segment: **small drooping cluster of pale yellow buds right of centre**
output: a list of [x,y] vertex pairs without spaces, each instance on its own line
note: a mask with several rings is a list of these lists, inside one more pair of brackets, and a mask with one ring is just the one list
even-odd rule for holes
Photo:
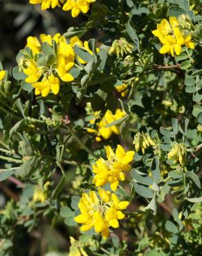
[[150,146],[155,146],[154,140],[151,138],[151,136],[147,133],[142,133],[138,132],[134,136],[134,142],[133,144],[135,145],[136,152],[138,152],[140,149],[145,154],[145,149],[147,149]]

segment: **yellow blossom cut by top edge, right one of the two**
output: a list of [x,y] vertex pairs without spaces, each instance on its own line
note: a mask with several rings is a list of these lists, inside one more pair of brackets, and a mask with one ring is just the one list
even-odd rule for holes
[[95,1],[96,0],[67,0],[63,6],[63,10],[71,10],[71,15],[75,18],[80,12],[88,12],[90,3]]

